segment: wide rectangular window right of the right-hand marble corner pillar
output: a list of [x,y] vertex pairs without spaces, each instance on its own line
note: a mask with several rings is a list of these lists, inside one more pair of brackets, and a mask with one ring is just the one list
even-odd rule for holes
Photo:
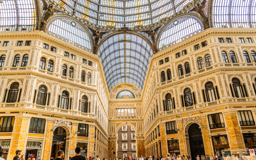
[[237,111],[240,126],[255,125],[251,111]]

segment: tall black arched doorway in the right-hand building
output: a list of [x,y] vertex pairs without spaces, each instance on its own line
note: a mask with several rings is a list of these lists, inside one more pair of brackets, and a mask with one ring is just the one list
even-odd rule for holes
[[191,153],[190,159],[195,160],[197,155],[199,155],[201,159],[201,155],[205,155],[205,152],[202,132],[198,124],[192,124],[189,126],[188,137]]

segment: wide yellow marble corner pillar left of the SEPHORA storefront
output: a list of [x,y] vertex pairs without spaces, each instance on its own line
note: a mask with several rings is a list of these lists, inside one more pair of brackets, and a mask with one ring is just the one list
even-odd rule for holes
[[13,130],[13,137],[12,137],[12,144],[11,144],[11,150],[10,150],[10,157],[15,156],[16,150],[22,150],[22,153],[24,153],[24,147],[25,147],[25,139],[26,134],[28,130],[28,121],[30,117],[26,116],[15,116],[15,125]]

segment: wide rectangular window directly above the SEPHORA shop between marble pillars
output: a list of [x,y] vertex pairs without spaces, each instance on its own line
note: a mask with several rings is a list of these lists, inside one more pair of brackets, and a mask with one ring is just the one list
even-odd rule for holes
[[45,119],[31,118],[29,131],[30,133],[44,133]]

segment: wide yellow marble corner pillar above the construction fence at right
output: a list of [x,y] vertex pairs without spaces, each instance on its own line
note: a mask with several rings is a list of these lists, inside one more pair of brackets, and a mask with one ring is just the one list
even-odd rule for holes
[[229,136],[229,147],[230,150],[235,149],[245,149],[244,143],[243,143],[243,137],[240,132],[238,119],[236,117],[237,111],[227,111],[223,112],[222,114],[225,116],[226,120],[226,128],[228,131]]

